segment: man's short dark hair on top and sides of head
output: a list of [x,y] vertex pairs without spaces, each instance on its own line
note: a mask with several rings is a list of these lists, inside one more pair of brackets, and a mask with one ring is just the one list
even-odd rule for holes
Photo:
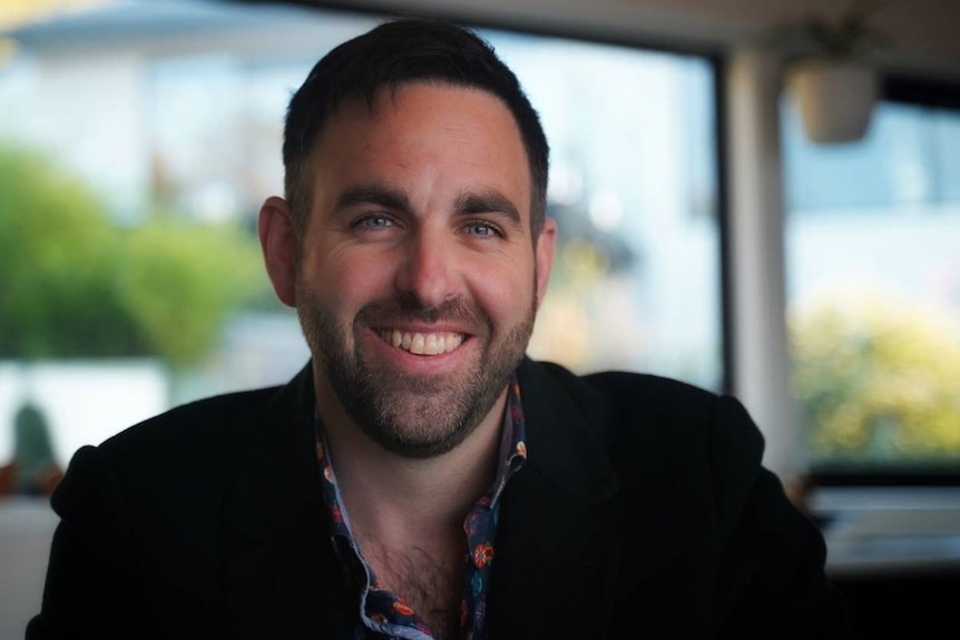
[[369,108],[382,89],[434,81],[499,97],[510,109],[527,150],[532,179],[531,233],[536,239],[547,206],[549,147],[540,118],[513,72],[472,31],[440,20],[400,18],[332,49],[293,95],[283,141],[284,188],[296,233],[306,230],[311,185],[307,165],[317,135],[341,100],[362,98]]

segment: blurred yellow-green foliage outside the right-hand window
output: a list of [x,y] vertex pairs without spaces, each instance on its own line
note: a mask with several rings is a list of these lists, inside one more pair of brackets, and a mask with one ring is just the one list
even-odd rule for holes
[[861,291],[791,319],[811,462],[960,460],[960,318]]

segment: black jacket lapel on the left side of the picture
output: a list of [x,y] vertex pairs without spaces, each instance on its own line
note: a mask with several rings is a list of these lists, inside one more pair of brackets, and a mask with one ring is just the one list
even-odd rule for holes
[[224,515],[232,638],[312,638],[341,628],[339,575],[313,439],[310,365],[252,420]]

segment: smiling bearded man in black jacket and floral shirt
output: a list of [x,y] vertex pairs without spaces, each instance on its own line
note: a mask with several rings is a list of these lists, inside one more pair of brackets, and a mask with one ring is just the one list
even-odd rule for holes
[[733,398],[525,357],[548,146],[469,31],[384,23],[291,100],[259,238],[308,366],[80,450],[28,638],[842,638]]

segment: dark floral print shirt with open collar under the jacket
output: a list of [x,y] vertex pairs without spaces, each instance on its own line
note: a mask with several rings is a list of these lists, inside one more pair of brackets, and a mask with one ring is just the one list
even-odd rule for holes
[[[403,598],[379,585],[373,568],[364,560],[350,529],[350,518],[343,504],[333,463],[327,455],[326,432],[317,414],[316,456],[323,483],[323,496],[333,524],[332,542],[336,555],[343,563],[347,589],[359,594],[360,622],[355,629],[357,640],[404,639],[431,640],[430,628]],[[463,591],[460,603],[461,640],[484,640],[487,582],[494,560],[499,498],[510,477],[520,470],[527,459],[523,412],[520,405],[520,386],[511,376],[503,414],[500,440],[500,459],[497,477],[487,493],[477,501],[463,531],[467,549],[463,571]]]

